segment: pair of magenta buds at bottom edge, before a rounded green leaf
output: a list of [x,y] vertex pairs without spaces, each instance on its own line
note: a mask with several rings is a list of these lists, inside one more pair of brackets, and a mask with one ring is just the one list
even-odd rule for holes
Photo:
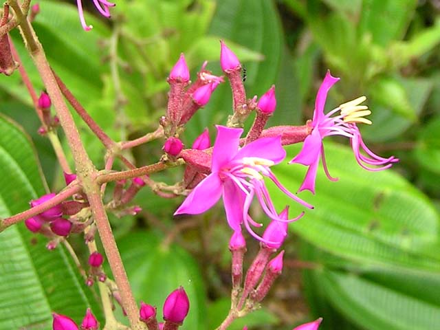
[[140,305],[140,320],[146,324],[148,330],[176,330],[184,322],[190,309],[190,301],[183,287],[179,287],[166,297],[163,314],[164,322],[157,322],[156,307],[144,302]]

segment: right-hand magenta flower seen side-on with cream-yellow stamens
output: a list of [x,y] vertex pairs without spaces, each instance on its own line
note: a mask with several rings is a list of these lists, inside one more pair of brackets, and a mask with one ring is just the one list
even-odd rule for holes
[[[326,115],[324,114],[327,93],[338,80],[339,78],[331,76],[330,72],[327,71],[316,96],[314,118],[311,122],[311,126],[313,127],[311,134],[305,138],[303,149],[301,149],[300,153],[289,163],[309,166],[303,184],[298,191],[307,189],[315,193],[316,170],[318,170],[320,159],[322,159],[322,166],[324,167],[327,177],[331,179],[331,181],[337,180],[337,178],[331,177],[325,162],[322,139],[329,135],[349,137],[356,161],[366,170],[384,170],[399,161],[399,159],[394,156],[384,158],[375,155],[375,153],[364,144],[356,123],[362,122],[364,124],[371,124],[370,120],[364,118],[365,115],[371,114],[371,111],[365,105],[360,105],[366,100],[365,96],[341,104]],[[339,114],[335,115],[336,113]],[[332,115],[335,116],[332,117]],[[361,149],[366,155],[361,153]]]

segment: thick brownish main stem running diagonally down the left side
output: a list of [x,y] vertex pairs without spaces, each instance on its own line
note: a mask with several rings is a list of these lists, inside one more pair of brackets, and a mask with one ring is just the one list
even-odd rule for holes
[[25,41],[30,56],[32,57],[36,68],[39,71],[39,74],[47,89],[47,93],[54,104],[61,126],[63,126],[65,131],[67,142],[69,143],[69,147],[74,157],[78,179],[83,186],[87,199],[89,200],[91,212],[96,221],[96,226],[98,228],[107,259],[109,260],[109,265],[115,278],[115,282],[120,290],[122,303],[124,305],[124,309],[126,310],[127,316],[129,317],[131,328],[133,330],[146,329],[139,320],[137,305],[135,303],[133,292],[131,291],[130,283],[126,276],[118,247],[111,232],[109,219],[107,218],[107,213],[105,212],[104,205],[102,203],[100,186],[96,183],[98,171],[85,151],[85,147],[80,139],[80,135],[74,123],[72,114],[69,112],[67,104],[64,102],[63,94],[61,94],[54,74],[50,69],[50,65],[47,63],[43,47],[41,47],[41,44],[39,43],[32,26],[21,11],[17,0],[9,0],[8,3],[14,10],[15,15],[20,22],[19,29],[21,35],[23,36],[23,40]]

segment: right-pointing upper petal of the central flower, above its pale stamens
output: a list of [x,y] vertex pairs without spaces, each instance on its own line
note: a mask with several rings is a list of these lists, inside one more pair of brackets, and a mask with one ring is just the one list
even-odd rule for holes
[[260,157],[270,159],[275,164],[282,162],[286,151],[281,146],[281,135],[276,137],[261,137],[250,144],[246,144],[236,153],[234,159],[243,157]]

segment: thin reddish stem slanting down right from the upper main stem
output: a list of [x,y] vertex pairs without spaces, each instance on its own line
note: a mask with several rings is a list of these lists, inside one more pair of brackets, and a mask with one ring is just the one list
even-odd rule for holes
[[76,100],[74,94],[67,88],[67,86],[63,83],[63,80],[52,70],[54,77],[56,79],[56,83],[58,87],[61,89],[61,93],[63,93],[64,97],[67,101],[69,101],[70,105],[75,109],[76,113],[80,115],[80,117],[84,120],[84,122],[89,126],[92,132],[98,137],[98,139],[104,144],[107,149],[111,149],[115,147],[115,142],[111,140],[109,135],[107,135],[98,124],[96,124],[95,120],[91,118],[89,113],[84,109],[84,107],[80,104],[78,100]]

